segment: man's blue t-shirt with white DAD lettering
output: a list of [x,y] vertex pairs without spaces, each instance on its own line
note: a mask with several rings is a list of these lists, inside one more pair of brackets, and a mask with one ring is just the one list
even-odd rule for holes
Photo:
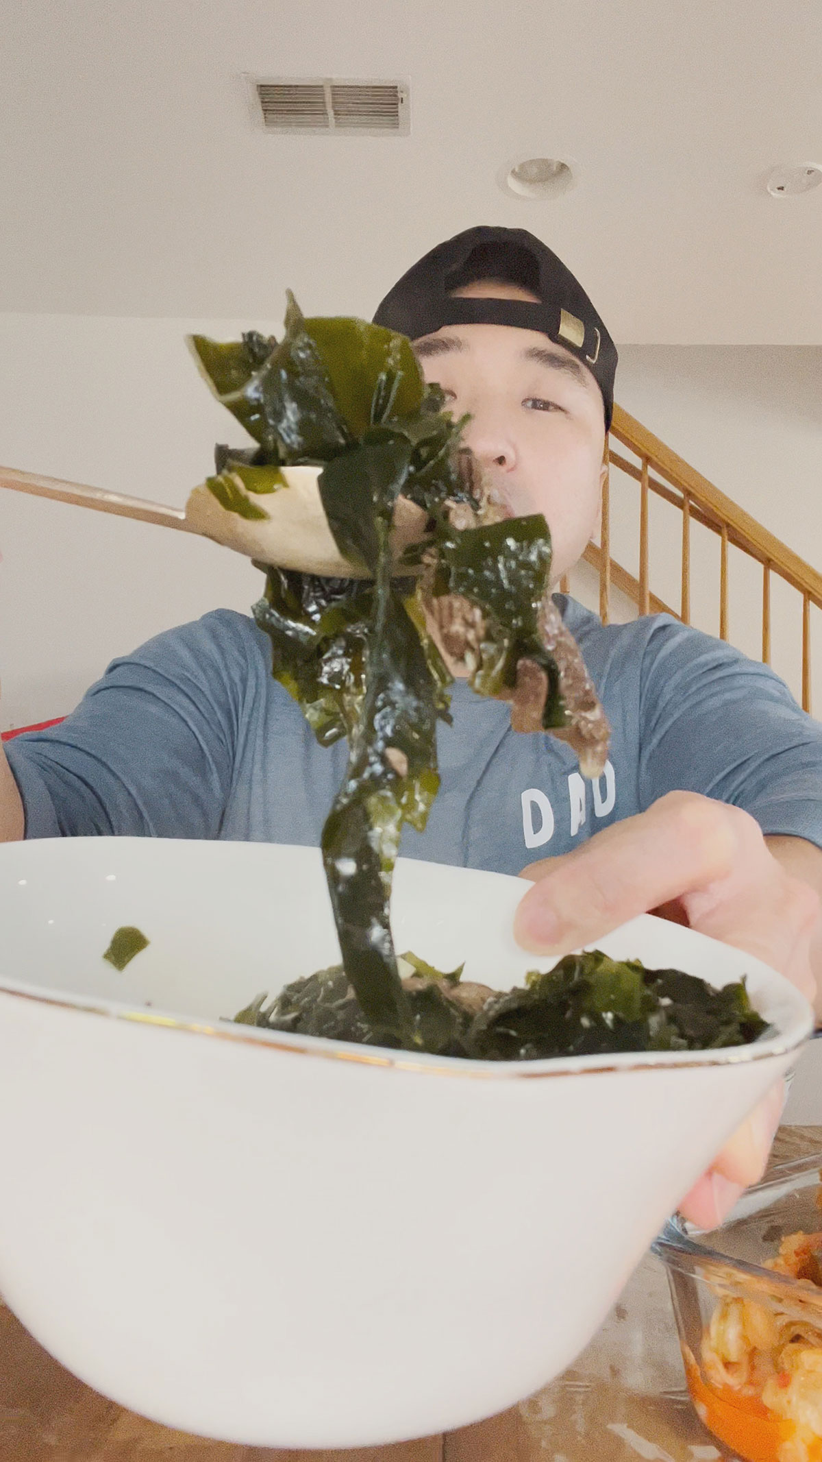
[[[767,667],[669,616],[603,627],[558,595],[613,728],[599,782],[555,737],[454,686],[442,785],[406,857],[518,873],[675,788],[746,808],[765,833],[822,846],[822,725]],[[58,727],[9,762],[26,836],[93,833],[317,845],[347,747],[317,744],[270,674],[270,646],[229,610],[117,659]]]

